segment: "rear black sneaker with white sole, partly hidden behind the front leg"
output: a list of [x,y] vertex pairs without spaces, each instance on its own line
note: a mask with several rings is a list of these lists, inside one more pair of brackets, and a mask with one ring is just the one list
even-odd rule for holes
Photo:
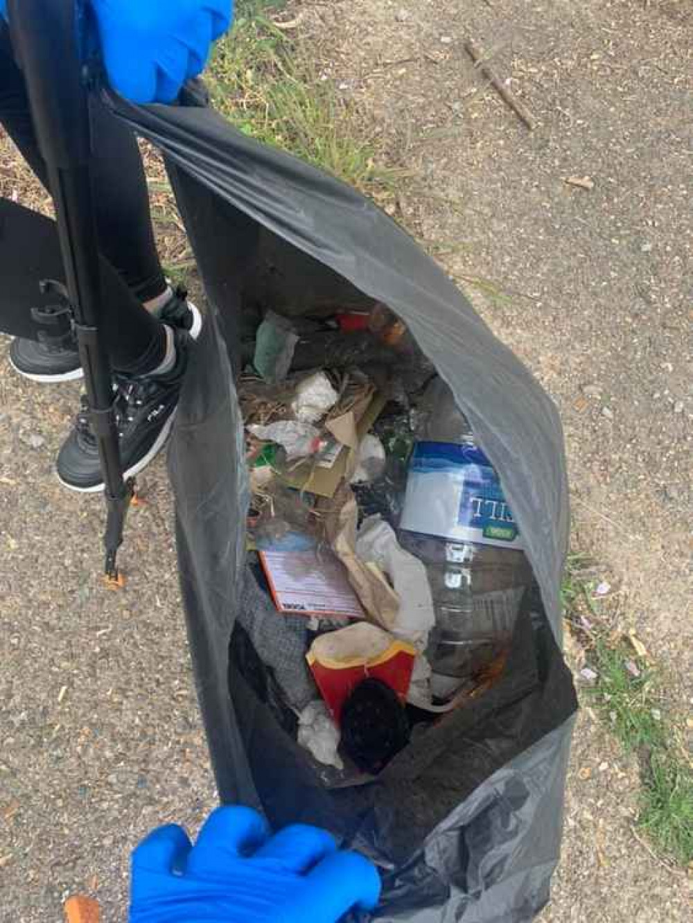
[[[175,289],[157,317],[169,327],[186,330],[193,340],[197,340],[202,330],[202,315],[197,307],[187,300],[187,293],[183,288]],[[83,375],[77,343],[48,346],[17,337],[10,344],[9,361],[19,375],[30,378],[31,381],[74,381]]]

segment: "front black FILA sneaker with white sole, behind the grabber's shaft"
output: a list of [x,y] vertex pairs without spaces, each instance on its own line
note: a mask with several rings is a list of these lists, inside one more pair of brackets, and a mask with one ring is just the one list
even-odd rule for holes
[[[125,477],[142,471],[163,449],[171,433],[191,342],[184,330],[174,330],[174,336],[176,358],[170,372],[142,378],[116,377],[115,414]],[[71,490],[103,490],[99,451],[85,398],[75,428],[58,453],[56,467],[60,481]]]

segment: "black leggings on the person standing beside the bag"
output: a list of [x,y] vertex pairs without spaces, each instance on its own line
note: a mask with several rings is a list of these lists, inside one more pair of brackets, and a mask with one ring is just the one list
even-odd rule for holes
[[[161,362],[165,350],[160,322],[141,305],[166,286],[151,229],[147,182],[132,132],[95,99],[90,113],[104,341],[114,368],[141,375]],[[0,123],[47,188],[24,78],[5,24],[0,27]],[[49,278],[64,278],[54,222],[0,199],[0,330],[38,338],[40,328],[30,309],[45,302],[38,282]]]

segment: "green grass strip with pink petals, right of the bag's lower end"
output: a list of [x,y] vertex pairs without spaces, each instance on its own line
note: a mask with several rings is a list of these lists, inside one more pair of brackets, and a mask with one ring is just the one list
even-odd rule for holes
[[639,760],[638,827],[664,857],[689,867],[693,863],[693,765],[664,713],[656,667],[639,656],[629,641],[598,621],[595,624],[599,612],[591,590],[580,579],[575,561],[569,561],[564,611],[579,622],[580,609],[587,609],[591,631],[581,640],[597,674],[591,694],[615,737]]

